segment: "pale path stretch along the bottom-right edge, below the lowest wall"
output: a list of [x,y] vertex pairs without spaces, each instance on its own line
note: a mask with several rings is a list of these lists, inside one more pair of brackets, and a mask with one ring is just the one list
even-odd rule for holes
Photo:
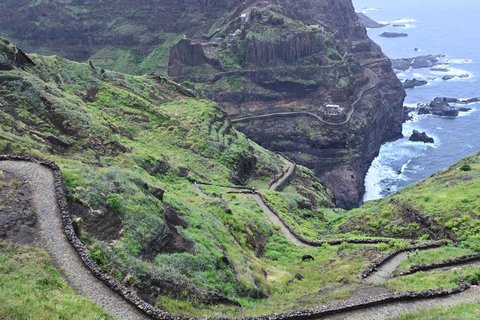
[[366,309],[343,312],[341,314],[316,319],[329,320],[380,320],[392,319],[405,313],[428,310],[437,307],[454,307],[460,303],[480,303],[480,288],[474,286],[467,291],[447,297],[395,302]]

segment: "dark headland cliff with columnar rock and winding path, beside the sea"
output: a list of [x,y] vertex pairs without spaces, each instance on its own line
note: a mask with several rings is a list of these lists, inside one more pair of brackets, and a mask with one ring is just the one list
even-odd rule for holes
[[255,141],[314,169],[339,206],[358,205],[381,144],[401,136],[404,91],[351,2],[246,3],[216,26],[172,49],[169,75],[219,102]]

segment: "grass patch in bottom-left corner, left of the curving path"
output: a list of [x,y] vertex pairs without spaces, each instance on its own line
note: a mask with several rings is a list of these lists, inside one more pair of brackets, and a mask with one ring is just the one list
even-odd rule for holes
[[111,319],[76,294],[38,248],[0,242],[0,318]]

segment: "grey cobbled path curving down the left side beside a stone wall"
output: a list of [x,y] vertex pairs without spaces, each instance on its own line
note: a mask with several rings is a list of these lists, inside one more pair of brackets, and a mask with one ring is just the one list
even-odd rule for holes
[[50,253],[67,282],[78,293],[101,305],[117,319],[151,319],[93,276],[83,264],[63,233],[63,222],[54,192],[53,174],[49,169],[31,162],[0,161],[0,170],[30,182],[43,247]]

